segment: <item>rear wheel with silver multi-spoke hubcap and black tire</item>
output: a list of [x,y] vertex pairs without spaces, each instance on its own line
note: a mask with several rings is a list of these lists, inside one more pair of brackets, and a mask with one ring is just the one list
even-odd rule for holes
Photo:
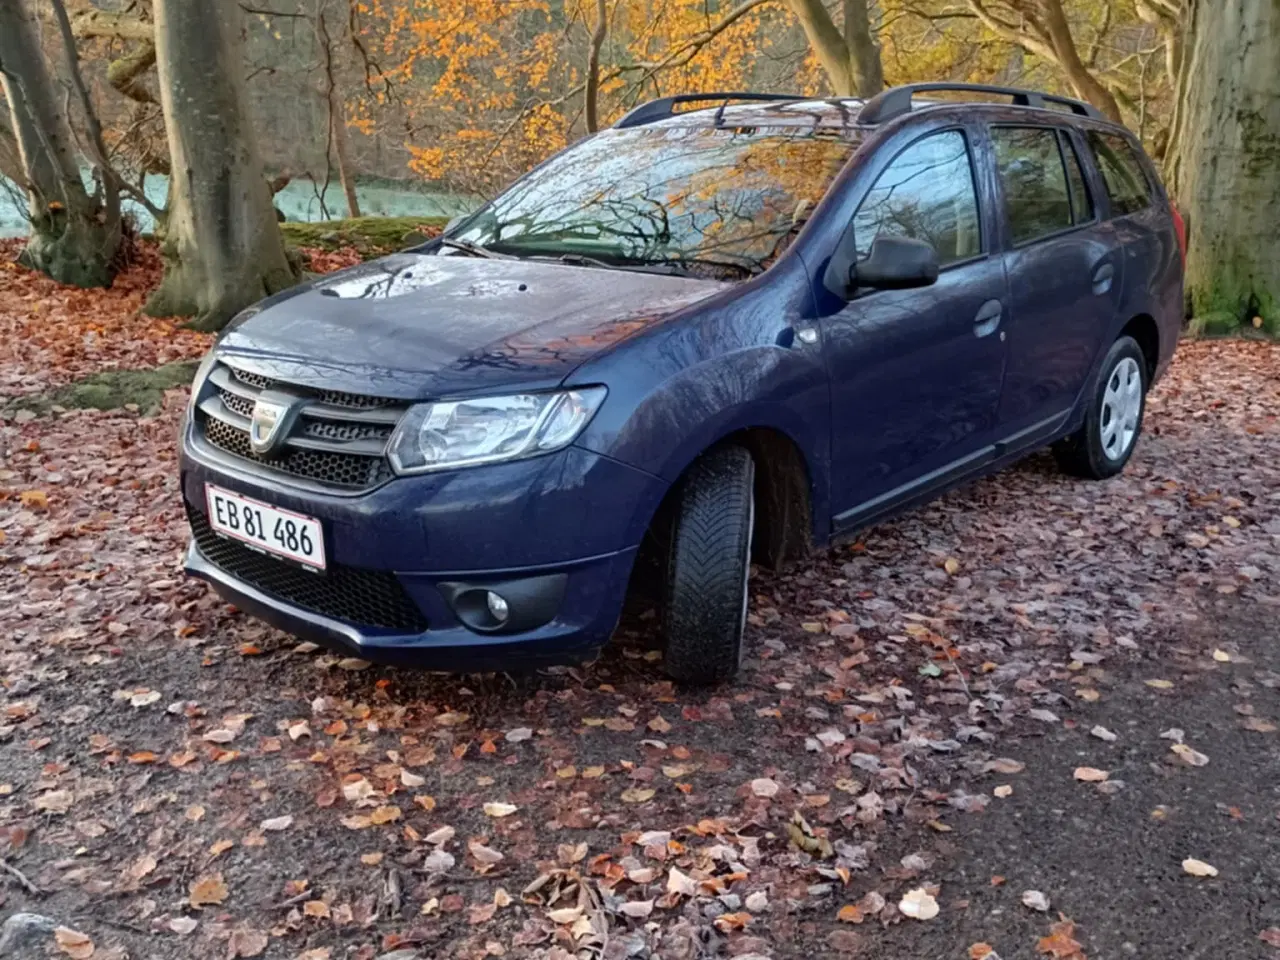
[[1147,357],[1121,337],[1102,360],[1084,425],[1053,445],[1059,466],[1073,476],[1106,480],[1124,470],[1147,412]]

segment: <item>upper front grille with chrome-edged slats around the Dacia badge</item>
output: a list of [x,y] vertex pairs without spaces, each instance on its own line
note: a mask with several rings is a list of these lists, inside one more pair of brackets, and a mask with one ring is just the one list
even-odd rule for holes
[[[366,490],[393,475],[385,448],[404,412],[394,401],[284,384],[229,364],[216,365],[206,384],[197,428],[233,457],[344,490]],[[259,394],[270,388],[302,396],[305,406],[284,449],[264,457],[252,451],[248,426]]]

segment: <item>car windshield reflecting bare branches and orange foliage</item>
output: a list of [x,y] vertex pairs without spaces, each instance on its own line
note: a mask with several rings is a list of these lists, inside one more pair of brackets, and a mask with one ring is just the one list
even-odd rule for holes
[[855,146],[808,127],[607,131],[534,170],[453,238],[517,256],[754,274],[790,243]]

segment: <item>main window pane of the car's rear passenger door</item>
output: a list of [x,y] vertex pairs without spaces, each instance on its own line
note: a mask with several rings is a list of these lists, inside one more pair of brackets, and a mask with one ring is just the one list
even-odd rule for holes
[[991,140],[1012,242],[1028,243],[1070,227],[1071,195],[1057,132],[1048,127],[996,127]]

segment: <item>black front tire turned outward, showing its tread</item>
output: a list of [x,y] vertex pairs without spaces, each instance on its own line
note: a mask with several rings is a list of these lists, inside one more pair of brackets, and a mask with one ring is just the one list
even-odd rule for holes
[[704,454],[676,504],[663,603],[667,676],[718,684],[742,663],[755,463],[741,447]]

